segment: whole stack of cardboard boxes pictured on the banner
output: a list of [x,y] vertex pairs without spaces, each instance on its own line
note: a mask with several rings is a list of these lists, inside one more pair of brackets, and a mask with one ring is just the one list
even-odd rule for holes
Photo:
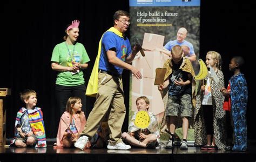
[[156,78],[156,69],[163,68],[169,56],[153,50],[155,47],[163,48],[163,44],[164,36],[144,33],[142,48],[144,49],[145,57],[138,52],[132,62],[132,65],[142,73],[143,78],[137,79],[132,76],[131,109],[137,112],[136,99],[140,96],[146,96],[150,100],[149,112],[156,115],[158,123],[161,123],[165,109],[158,87],[154,85],[154,79]]

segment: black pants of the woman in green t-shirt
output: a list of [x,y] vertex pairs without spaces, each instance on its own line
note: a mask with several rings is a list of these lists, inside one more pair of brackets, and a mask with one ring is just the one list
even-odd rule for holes
[[84,84],[77,86],[63,86],[56,85],[56,105],[57,105],[57,119],[60,119],[63,112],[66,111],[66,102],[70,97],[79,97],[83,104],[82,111],[85,112],[86,96],[85,96],[86,87]]

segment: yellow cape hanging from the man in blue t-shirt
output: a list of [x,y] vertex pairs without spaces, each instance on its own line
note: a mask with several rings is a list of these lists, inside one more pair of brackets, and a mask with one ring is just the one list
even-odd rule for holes
[[[123,33],[118,31],[114,27],[111,27],[107,31],[111,31],[111,32],[115,33],[116,35],[118,35],[119,37],[124,38]],[[103,35],[106,32],[104,32]],[[103,35],[102,35],[102,37],[103,37]],[[96,97],[96,95],[98,93],[98,72],[99,72],[99,58],[100,58],[101,50],[102,50],[102,38],[100,38],[100,40],[99,40],[98,55],[96,57],[95,64],[93,66],[92,73],[91,73],[91,76],[90,76],[90,79],[89,79],[89,82],[87,85],[87,89],[85,92],[85,95],[90,96],[90,97]]]

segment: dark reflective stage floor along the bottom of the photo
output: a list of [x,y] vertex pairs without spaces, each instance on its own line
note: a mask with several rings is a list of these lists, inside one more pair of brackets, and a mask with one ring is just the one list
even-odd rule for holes
[[250,143],[246,152],[203,151],[200,147],[189,146],[180,150],[161,149],[55,149],[48,144],[46,148],[0,147],[0,161],[256,161],[256,143]]

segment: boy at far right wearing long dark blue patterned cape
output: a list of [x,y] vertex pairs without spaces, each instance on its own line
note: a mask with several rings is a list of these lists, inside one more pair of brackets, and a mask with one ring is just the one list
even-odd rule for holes
[[[230,71],[234,75],[230,78],[230,89],[228,92],[225,87],[221,89],[225,96],[231,97],[231,116],[233,123],[234,146],[232,151],[246,151],[247,149],[247,126],[246,126],[246,107],[248,101],[247,83],[244,74],[240,69],[244,64],[244,59],[240,56],[235,56],[230,61]],[[231,147],[226,147],[226,150],[231,150]]]

